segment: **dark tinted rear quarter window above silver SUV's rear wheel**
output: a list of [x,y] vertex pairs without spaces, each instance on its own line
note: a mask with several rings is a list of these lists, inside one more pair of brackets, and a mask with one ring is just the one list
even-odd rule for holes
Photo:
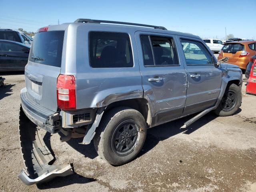
[[92,68],[132,67],[132,47],[126,33],[90,32],[90,66]]

